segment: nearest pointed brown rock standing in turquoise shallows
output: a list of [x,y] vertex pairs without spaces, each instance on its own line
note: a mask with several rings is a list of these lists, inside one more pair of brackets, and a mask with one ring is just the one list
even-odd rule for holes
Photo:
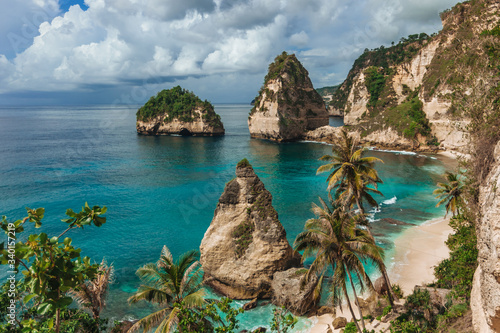
[[276,272],[300,263],[272,206],[272,196],[248,161],[236,167],[200,246],[205,282],[233,299],[271,297]]

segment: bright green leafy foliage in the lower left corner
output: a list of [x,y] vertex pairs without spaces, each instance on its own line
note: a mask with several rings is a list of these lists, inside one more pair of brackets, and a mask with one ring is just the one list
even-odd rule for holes
[[9,222],[4,216],[0,225],[7,234],[7,243],[0,244],[1,264],[10,272],[22,271],[24,275],[20,279],[16,277],[18,281],[8,293],[13,294],[17,312],[9,313],[4,327],[23,332],[43,331],[48,327],[58,333],[64,326],[63,314],[68,313],[66,310],[73,303],[68,291],[93,279],[99,268],[91,264],[89,257],[81,257],[81,249],[72,245],[71,238],[60,239],[75,228],[102,226],[106,218],[101,215],[106,207],[90,208],[85,203],[79,213],[68,209],[68,218],[62,220],[68,225],[66,230],[53,237],[44,232],[23,237],[26,223],[40,228],[45,214],[43,208],[26,210],[28,216],[24,219]]

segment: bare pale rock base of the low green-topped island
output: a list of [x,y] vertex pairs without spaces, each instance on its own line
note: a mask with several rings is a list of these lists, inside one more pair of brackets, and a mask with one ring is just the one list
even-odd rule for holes
[[220,121],[213,122],[204,119],[207,113],[202,108],[193,110],[192,120],[182,121],[174,118],[165,121],[165,114],[160,114],[152,119],[137,120],[137,133],[142,135],[170,135],[184,136],[220,136],[224,135],[224,126]]

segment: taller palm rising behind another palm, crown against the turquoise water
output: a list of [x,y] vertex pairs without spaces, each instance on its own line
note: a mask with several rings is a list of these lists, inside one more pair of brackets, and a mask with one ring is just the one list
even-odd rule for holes
[[[370,192],[382,195],[377,190],[377,184],[382,183],[382,180],[378,176],[378,172],[374,166],[375,162],[383,163],[383,161],[376,157],[363,157],[364,152],[364,148],[359,149],[359,141],[349,135],[344,128],[342,129],[339,142],[332,146],[333,155],[325,155],[320,158],[320,160],[327,161],[328,163],[320,166],[317,174],[331,171],[327,178],[327,190],[330,199],[333,200],[331,196],[332,189],[337,188],[335,193],[337,202],[348,208],[352,208],[356,204],[362,217],[360,223],[367,227],[369,236],[375,241],[365,218],[363,200],[366,200],[371,206],[378,206],[377,201],[372,197]],[[370,185],[374,186],[374,188],[369,187]],[[387,295],[389,296],[389,302],[394,306],[396,295],[392,291],[387,269],[383,262],[379,267],[388,287]]]

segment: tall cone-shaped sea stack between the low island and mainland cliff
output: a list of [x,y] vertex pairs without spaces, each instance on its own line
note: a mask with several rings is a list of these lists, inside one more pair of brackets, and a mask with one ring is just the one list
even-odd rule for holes
[[328,122],[323,98],[295,55],[283,52],[276,57],[248,117],[252,138],[300,140],[305,132]]

